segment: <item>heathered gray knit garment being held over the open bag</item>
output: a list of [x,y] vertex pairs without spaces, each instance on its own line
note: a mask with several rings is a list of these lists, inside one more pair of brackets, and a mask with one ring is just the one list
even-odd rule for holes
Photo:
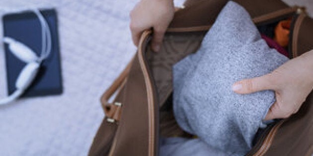
[[267,74],[287,60],[261,39],[243,7],[228,2],[198,52],[173,67],[179,126],[214,148],[244,155],[275,96],[273,91],[235,94],[232,85]]

